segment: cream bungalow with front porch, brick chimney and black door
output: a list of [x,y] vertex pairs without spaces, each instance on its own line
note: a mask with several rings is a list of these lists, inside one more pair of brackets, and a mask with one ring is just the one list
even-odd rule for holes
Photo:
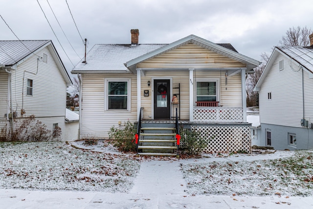
[[130,120],[141,123],[139,149],[149,149],[149,134],[175,126],[177,109],[179,124],[207,140],[205,151],[250,151],[246,73],[258,61],[195,35],[171,44],[139,44],[138,29],[131,35],[131,44],[93,46],[71,71],[81,75],[80,138],[108,138]]

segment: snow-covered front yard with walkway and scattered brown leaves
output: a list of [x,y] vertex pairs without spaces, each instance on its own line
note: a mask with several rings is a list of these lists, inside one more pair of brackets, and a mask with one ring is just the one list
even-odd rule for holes
[[0,144],[1,208],[306,209],[312,187],[312,151],[179,160],[102,142]]

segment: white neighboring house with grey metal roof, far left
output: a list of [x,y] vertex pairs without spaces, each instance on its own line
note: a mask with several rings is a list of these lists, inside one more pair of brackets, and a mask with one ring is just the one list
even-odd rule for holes
[[71,84],[50,40],[0,41],[0,129],[7,125],[14,130],[17,121],[35,115],[48,130],[60,127],[62,140],[74,139],[66,134]]

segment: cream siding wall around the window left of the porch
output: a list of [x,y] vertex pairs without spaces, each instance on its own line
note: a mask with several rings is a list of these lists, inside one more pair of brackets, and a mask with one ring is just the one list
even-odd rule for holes
[[[136,90],[136,75],[123,74],[122,80],[125,78],[131,80],[131,89],[129,94],[131,99],[131,109],[125,112],[121,110],[105,111],[105,79],[114,79],[121,77],[121,74],[112,74],[104,76],[103,74],[82,74],[83,90],[81,104],[81,125],[82,125],[82,138],[95,137],[95,138],[108,138],[108,131],[114,125],[119,127],[118,121],[122,125],[127,120],[131,122],[137,121],[137,90]],[[146,83],[147,84],[147,83]]]

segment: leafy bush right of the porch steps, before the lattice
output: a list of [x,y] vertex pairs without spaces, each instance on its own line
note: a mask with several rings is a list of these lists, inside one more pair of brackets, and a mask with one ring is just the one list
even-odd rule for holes
[[199,155],[206,147],[206,142],[201,135],[193,129],[179,128],[180,133],[180,149],[188,155]]

